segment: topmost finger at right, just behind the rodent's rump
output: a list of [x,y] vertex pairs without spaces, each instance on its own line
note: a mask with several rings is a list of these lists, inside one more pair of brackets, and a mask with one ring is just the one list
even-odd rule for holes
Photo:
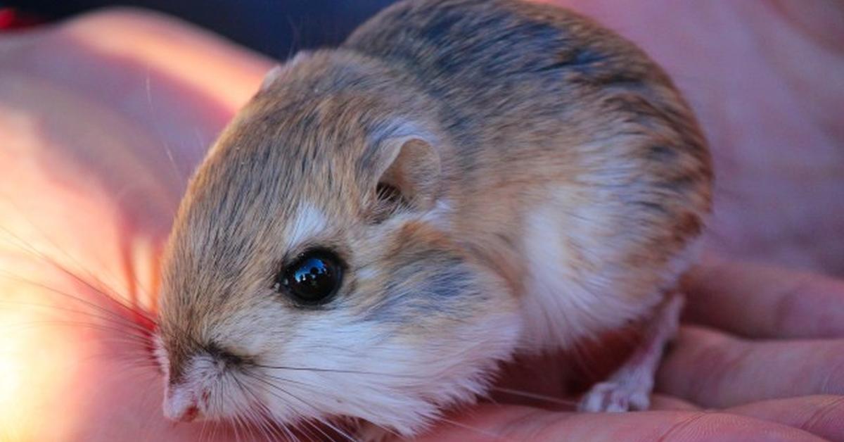
[[690,322],[748,337],[844,336],[844,281],[705,259],[684,281]]

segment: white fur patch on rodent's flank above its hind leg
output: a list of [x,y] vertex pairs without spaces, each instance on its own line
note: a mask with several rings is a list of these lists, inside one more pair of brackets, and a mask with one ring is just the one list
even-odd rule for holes
[[[619,224],[613,213],[619,212],[552,199],[527,215],[522,350],[571,347],[576,341],[639,319],[688,268],[690,247],[664,269],[614,265],[622,262],[624,248],[635,238],[617,232]],[[641,272],[653,271],[663,274],[663,283],[631,297],[630,287],[636,286],[631,282],[641,277]]]

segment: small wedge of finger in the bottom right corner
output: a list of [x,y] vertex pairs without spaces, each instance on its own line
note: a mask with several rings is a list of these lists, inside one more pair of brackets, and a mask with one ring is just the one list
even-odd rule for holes
[[844,442],[844,396],[804,396],[772,399],[726,412],[801,428],[825,439]]

